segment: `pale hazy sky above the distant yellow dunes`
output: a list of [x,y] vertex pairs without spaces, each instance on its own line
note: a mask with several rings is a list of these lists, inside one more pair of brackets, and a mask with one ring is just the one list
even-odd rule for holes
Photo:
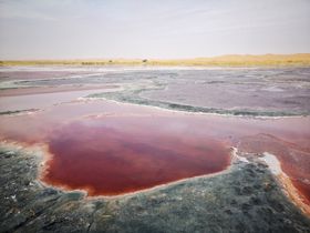
[[310,52],[310,0],[0,0],[0,59]]

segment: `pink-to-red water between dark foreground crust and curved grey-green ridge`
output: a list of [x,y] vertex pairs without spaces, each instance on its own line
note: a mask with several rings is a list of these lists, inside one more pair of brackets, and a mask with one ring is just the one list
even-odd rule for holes
[[[28,95],[32,104],[44,104],[38,97]],[[20,104],[18,99],[13,103]],[[2,115],[0,129],[1,140],[48,145],[52,159],[43,181],[84,189],[90,195],[122,194],[223,171],[232,145],[277,155],[310,200],[309,118],[225,118],[92,101],[49,105],[30,115]]]

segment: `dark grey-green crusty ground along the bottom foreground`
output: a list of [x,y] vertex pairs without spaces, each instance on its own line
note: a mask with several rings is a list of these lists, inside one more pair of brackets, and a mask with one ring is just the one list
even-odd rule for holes
[[86,197],[42,185],[39,152],[0,148],[0,232],[310,232],[256,162],[137,194]]

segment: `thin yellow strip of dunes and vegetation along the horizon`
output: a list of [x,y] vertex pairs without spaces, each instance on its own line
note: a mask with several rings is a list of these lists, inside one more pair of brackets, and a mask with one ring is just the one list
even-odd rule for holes
[[310,65],[310,53],[220,55],[196,59],[90,59],[90,60],[3,60],[2,65],[197,65],[197,67],[255,67],[255,65]]

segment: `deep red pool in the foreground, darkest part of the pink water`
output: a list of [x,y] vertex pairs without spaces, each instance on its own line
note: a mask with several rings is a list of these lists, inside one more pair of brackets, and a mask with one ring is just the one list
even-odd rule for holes
[[[76,122],[53,134],[54,154],[44,181],[90,195],[114,195],[165,184],[185,178],[214,173],[229,164],[229,150],[207,138],[163,133],[152,119],[127,132],[122,119]],[[149,121],[151,120],[151,121]]]

